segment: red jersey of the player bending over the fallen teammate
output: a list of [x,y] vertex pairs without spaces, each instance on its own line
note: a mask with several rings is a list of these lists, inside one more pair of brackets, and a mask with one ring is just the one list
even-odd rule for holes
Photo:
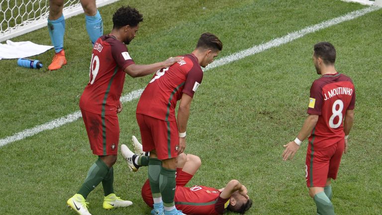
[[137,113],[166,121],[176,121],[175,107],[183,93],[193,97],[203,79],[203,72],[193,54],[171,67],[158,70],[143,91]]

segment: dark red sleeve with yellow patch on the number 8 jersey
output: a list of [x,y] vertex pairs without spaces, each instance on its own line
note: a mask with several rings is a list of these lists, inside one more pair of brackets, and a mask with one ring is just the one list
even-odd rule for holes
[[310,87],[309,105],[307,113],[314,115],[321,115],[321,108],[323,102],[322,87],[316,80]]

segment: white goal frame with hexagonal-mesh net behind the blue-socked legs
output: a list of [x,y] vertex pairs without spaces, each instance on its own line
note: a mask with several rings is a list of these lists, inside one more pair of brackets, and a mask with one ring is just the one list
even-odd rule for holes
[[[97,7],[118,0],[96,0]],[[83,13],[79,0],[65,0],[65,19]],[[0,42],[47,26],[49,0],[0,0]]]

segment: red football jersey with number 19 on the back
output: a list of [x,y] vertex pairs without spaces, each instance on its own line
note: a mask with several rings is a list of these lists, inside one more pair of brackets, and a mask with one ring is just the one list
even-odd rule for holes
[[114,36],[97,39],[90,63],[90,80],[80,99],[80,107],[96,114],[116,114],[126,73],[134,64],[126,45]]

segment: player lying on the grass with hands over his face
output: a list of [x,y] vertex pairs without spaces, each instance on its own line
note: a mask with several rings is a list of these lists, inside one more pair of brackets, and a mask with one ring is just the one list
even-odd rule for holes
[[[121,152],[129,169],[135,172],[139,167],[147,166],[149,158],[135,136],[132,140],[136,154],[126,145],[121,145]],[[231,180],[219,190],[205,186],[185,187],[200,165],[200,158],[196,155],[182,153],[178,156],[175,191],[177,209],[187,215],[221,215],[225,209],[244,214],[251,208],[252,200],[247,195],[247,188],[237,180]],[[153,207],[148,179],[142,187],[142,198],[148,206]]]

